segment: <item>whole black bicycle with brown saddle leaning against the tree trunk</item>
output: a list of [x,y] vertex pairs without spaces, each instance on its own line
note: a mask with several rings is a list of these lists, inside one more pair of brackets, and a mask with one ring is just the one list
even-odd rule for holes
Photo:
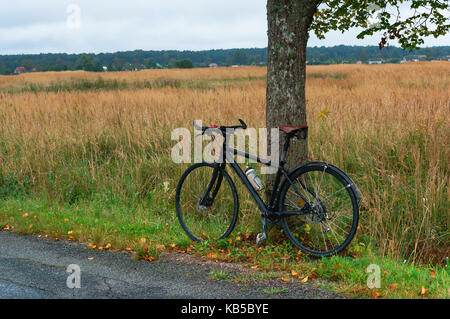
[[[230,165],[261,211],[262,232],[257,235],[257,244],[267,239],[268,224],[281,223],[289,240],[305,253],[328,257],[344,250],[352,241],[359,220],[360,194],[352,179],[325,162],[309,162],[290,171],[285,169],[291,139],[306,139],[307,126],[279,127],[286,133],[279,164],[229,147],[230,135],[235,130],[247,129],[244,121],[239,121],[241,125],[220,127],[200,127],[194,121],[194,128],[202,135],[213,130],[224,140],[221,161],[190,166],[178,183],[175,206],[178,220],[189,238],[197,242],[220,240],[233,231],[239,199],[236,186],[226,171],[226,166]],[[268,204],[236,161],[229,160],[236,155],[277,169]]]

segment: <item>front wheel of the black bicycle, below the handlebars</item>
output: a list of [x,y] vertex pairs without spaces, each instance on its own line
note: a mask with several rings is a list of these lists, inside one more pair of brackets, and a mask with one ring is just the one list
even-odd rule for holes
[[236,187],[214,164],[189,167],[178,183],[175,206],[178,220],[194,241],[219,240],[231,234],[236,225],[239,202]]

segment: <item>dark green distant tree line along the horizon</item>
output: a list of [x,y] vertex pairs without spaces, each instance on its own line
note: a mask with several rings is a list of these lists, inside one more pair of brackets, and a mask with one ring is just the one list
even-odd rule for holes
[[[308,63],[338,64],[367,63],[370,59],[383,59],[385,63],[399,63],[407,55],[426,55],[438,59],[450,55],[450,46],[430,47],[420,51],[405,51],[397,47],[379,50],[378,46],[312,47],[307,50]],[[154,68],[192,68],[231,65],[265,65],[267,48],[229,49],[207,51],[125,51],[100,54],[20,54],[0,55],[0,74],[13,74],[17,67],[27,71],[85,70],[131,71]]]

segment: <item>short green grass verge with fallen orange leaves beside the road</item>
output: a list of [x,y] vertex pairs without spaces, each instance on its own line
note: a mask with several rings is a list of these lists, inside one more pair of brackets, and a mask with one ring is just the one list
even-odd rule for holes
[[[161,209],[164,207],[161,207]],[[271,232],[271,240],[256,247],[254,234],[239,229],[227,240],[214,243],[191,243],[184,235],[172,209],[155,210],[151,206],[129,207],[119,202],[98,199],[61,205],[48,200],[9,198],[0,201],[0,225],[12,225],[13,231],[78,240],[96,248],[128,249],[138,258],[153,260],[162,252],[186,250],[191,254],[227,262],[240,262],[260,270],[232,275],[224,270],[210,273],[210,279],[234,282],[282,277],[307,281],[350,297],[371,298],[449,298],[450,265],[425,266],[380,257],[372,247],[356,240],[347,256],[312,259]],[[274,233],[275,232],[275,233]],[[250,236],[248,240],[244,238]],[[145,240],[144,240],[145,239]],[[164,247],[162,247],[164,245]],[[370,264],[381,269],[381,288],[368,289],[366,272]],[[297,273],[292,276],[292,271]],[[236,281],[237,282],[237,281]],[[395,289],[391,289],[395,284]],[[425,296],[420,293],[427,289]],[[269,292],[267,292],[269,293]]]

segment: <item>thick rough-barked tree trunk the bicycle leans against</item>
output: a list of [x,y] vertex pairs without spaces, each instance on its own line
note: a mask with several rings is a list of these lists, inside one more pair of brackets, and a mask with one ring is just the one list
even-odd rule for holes
[[[317,0],[268,0],[268,70],[266,125],[306,125],[306,45],[309,27],[317,11]],[[268,136],[270,143],[270,134]],[[280,132],[280,156],[285,135]],[[306,140],[293,139],[287,154],[287,168],[304,163],[308,156]],[[275,175],[267,175],[266,194],[273,188]]]

